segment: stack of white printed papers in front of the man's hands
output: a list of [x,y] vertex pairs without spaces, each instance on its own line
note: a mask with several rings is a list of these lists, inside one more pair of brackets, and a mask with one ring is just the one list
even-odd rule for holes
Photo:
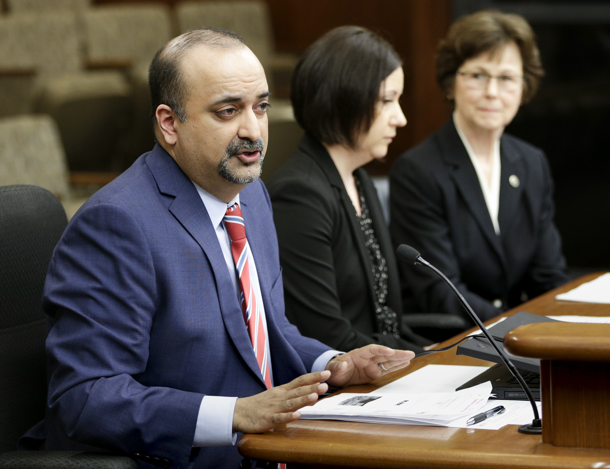
[[373,423],[452,426],[487,404],[492,384],[486,382],[445,393],[343,393],[300,409],[301,418]]

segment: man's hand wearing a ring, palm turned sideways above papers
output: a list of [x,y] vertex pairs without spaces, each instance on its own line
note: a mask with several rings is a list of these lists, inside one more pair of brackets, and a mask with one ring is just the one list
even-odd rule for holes
[[394,350],[384,345],[356,348],[328,362],[326,370],[331,371],[331,377],[326,382],[336,387],[365,384],[406,367],[413,357],[414,352]]

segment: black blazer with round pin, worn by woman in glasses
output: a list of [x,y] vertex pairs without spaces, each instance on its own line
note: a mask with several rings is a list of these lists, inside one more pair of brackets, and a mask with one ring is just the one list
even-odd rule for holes
[[[566,281],[544,153],[504,134],[500,160],[500,235],[453,119],[404,153],[390,170],[394,245],[420,251],[484,320]],[[433,273],[402,261],[399,268],[405,296],[416,309],[466,317]]]

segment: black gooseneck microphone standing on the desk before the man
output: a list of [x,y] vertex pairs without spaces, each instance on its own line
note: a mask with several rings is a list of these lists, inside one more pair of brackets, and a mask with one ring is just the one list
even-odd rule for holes
[[417,251],[417,249],[414,249],[411,246],[407,245],[400,245],[396,250],[396,254],[400,259],[404,260],[404,262],[408,262],[413,265],[420,264],[424,267],[429,268],[432,272],[436,273],[440,278],[442,278],[447,285],[449,285],[451,290],[453,290],[453,293],[455,293],[458,297],[460,303],[462,303],[462,306],[464,306],[464,308],[468,312],[468,315],[470,315],[472,320],[475,321],[475,324],[478,326],[478,328],[481,329],[481,332],[483,332],[487,340],[489,340],[489,343],[493,346],[493,348],[495,348],[495,351],[497,351],[498,355],[500,355],[500,358],[504,362],[504,365],[506,365],[506,368],[508,368],[511,371],[512,376],[514,376],[515,379],[519,381],[519,384],[522,385],[523,390],[525,390],[525,393],[528,396],[529,403],[531,404],[532,409],[534,410],[534,420],[532,420],[532,423],[521,425],[519,427],[519,432],[533,435],[542,434],[542,420],[540,420],[540,415],[538,414],[538,407],[536,407],[536,402],[534,401],[534,397],[532,396],[528,385],[526,384],[521,374],[519,374],[519,371],[517,371],[517,368],[515,368],[515,365],[513,365],[511,360],[508,359],[508,357],[504,353],[504,350],[500,346],[498,346],[495,340],[493,340],[492,335],[489,334],[487,328],[483,326],[483,322],[481,322],[481,320],[472,310],[470,305],[466,302],[464,296],[462,296],[462,294],[458,291],[458,288],[456,288],[455,285],[453,285],[451,281],[447,277],[445,277],[445,274],[443,274],[440,270],[434,267],[434,265],[424,260],[422,256],[420,256],[420,253]]

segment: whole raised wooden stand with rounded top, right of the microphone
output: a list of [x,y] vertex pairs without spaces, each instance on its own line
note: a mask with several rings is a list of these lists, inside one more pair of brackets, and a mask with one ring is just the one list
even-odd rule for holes
[[610,324],[525,324],[504,346],[543,359],[543,442],[610,449]]

